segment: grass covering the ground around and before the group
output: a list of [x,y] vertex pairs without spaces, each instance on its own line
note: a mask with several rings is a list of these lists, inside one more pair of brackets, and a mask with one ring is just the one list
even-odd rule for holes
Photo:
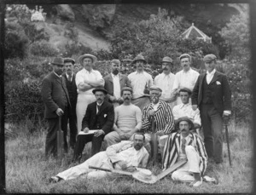
[[[87,180],[81,176],[73,181],[49,183],[49,177],[73,166],[72,152],[62,162],[44,159],[45,129],[29,133],[26,123],[14,129],[16,136],[6,139],[6,192],[8,193],[249,193],[253,190],[253,136],[249,125],[230,123],[230,168],[227,146],[224,143],[224,163],[208,163],[207,175],[218,184],[203,182],[198,188],[173,182],[170,175],[153,185],[135,181],[129,176],[112,175],[102,180]],[[90,146],[86,146],[89,150]],[[86,154],[85,154],[86,155]],[[160,164],[148,163],[155,175]]]

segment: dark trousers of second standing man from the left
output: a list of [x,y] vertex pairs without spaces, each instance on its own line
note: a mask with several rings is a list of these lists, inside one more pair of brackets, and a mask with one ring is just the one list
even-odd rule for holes
[[[70,129],[70,139],[69,145],[74,148],[76,143],[76,137],[78,134],[78,127],[77,127],[77,113],[76,113],[76,101],[71,101],[71,108],[68,107],[67,115],[65,115],[65,119],[63,120],[63,132],[64,137],[66,138],[67,144],[67,122],[69,122],[69,129]],[[65,142],[65,141],[64,141]]]

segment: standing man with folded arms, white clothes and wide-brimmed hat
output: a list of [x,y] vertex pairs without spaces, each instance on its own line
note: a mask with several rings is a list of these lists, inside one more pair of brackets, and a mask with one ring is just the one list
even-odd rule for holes
[[79,57],[80,65],[84,66],[84,68],[76,75],[76,84],[79,93],[76,108],[79,132],[82,128],[82,120],[87,106],[96,100],[92,90],[96,87],[104,86],[102,74],[92,68],[96,61],[96,56],[92,54],[83,54]]

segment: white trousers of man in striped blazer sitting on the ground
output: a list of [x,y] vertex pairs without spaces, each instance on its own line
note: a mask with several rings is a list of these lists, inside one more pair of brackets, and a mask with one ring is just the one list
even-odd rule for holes
[[195,181],[193,173],[201,173],[199,169],[200,157],[194,146],[185,147],[188,162],[172,173],[173,181],[191,182]]

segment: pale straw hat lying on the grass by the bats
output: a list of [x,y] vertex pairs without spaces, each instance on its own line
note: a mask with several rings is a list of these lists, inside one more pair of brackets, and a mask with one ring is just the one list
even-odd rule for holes
[[157,181],[157,177],[148,169],[139,169],[132,176],[143,183],[152,184]]

